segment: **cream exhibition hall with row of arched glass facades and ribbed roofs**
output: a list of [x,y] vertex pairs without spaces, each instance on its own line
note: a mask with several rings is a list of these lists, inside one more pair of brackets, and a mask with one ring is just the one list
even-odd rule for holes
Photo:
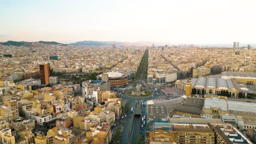
[[187,96],[197,94],[243,97],[241,89],[235,80],[222,78],[200,77],[199,79],[177,80],[176,87],[183,89]]

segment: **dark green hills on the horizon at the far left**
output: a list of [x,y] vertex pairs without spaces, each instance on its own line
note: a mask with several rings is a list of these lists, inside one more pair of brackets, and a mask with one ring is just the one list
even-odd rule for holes
[[36,44],[45,44],[45,45],[66,45],[66,44],[61,44],[57,43],[56,41],[36,41],[36,42],[27,42],[27,41],[6,41],[1,43],[1,45],[13,45],[13,46],[32,46]]

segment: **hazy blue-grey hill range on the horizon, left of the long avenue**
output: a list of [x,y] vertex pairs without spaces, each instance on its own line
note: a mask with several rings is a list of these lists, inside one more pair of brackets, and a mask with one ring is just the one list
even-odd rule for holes
[[81,46],[104,46],[104,45],[122,45],[122,42],[119,41],[92,41],[92,40],[85,40],[85,41],[78,41],[76,43],[71,43],[69,45],[81,45]]

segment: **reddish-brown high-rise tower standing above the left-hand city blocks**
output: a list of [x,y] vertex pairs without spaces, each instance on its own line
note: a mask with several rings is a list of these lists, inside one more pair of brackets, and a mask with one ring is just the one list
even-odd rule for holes
[[40,70],[41,84],[42,85],[49,85],[50,64],[49,63],[39,64],[39,70]]

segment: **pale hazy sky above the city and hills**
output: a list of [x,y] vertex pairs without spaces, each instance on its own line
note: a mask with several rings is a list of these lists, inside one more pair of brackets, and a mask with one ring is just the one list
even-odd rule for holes
[[0,0],[0,41],[256,43],[256,1]]

